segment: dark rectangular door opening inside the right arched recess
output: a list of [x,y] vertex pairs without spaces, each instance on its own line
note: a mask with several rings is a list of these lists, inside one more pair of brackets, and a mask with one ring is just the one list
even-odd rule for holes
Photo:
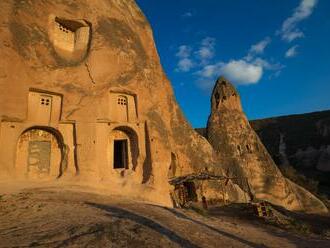
[[113,168],[128,169],[128,142],[127,139],[114,140]]

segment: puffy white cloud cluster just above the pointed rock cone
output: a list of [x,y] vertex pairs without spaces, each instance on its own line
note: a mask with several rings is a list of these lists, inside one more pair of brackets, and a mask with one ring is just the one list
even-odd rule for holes
[[[215,55],[216,40],[212,37],[204,38],[197,50],[191,46],[182,45],[178,48],[176,57],[179,58],[177,71],[189,72],[198,69],[193,74],[197,76],[196,83],[201,89],[209,90],[216,78],[223,75],[236,85],[256,84],[260,81],[265,70],[272,71],[272,75],[278,75],[284,66],[280,63],[273,63],[260,54],[271,42],[266,37],[260,42],[252,45],[249,53],[242,59],[230,60],[228,62],[211,62]],[[194,56],[193,56],[194,55]]]

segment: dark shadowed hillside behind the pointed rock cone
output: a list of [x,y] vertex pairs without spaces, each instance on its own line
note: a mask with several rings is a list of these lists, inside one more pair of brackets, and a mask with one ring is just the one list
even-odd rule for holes
[[[250,121],[277,165],[291,165],[330,195],[330,110]],[[205,128],[196,131],[206,136]]]

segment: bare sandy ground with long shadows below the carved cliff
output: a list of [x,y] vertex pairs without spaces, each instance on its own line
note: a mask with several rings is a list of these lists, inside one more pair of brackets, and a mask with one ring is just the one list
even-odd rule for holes
[[237,206],[182,210],[72,187],[0,185],[0,247],[330,247],[324,235],[289,229]]

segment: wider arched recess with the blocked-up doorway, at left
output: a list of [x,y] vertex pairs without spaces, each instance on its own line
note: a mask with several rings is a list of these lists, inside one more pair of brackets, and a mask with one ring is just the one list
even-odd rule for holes
[[32,127],[19,137],[16,174],[28,179],[55,179],[61,176],[66,157],[62,135],[48,127]]

